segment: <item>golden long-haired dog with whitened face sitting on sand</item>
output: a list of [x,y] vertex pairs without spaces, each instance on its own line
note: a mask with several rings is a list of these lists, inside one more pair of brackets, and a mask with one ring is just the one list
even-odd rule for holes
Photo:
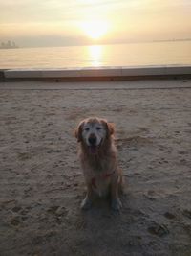
[[78,155],[87,186],[81,208],[90,209],[95,195],[98,195],[110,196],[112,209],[118,211],[122,207],[118,193],[122,191],[123,180],[122,171],[117,165],[114,124],[91,117],[81,121],[74,133],[79,144]]

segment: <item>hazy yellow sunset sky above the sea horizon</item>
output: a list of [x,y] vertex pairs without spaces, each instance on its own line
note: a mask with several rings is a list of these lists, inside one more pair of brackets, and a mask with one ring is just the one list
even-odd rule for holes
[[0,42],[23,47],[191,38],[191,0],[0,0]]

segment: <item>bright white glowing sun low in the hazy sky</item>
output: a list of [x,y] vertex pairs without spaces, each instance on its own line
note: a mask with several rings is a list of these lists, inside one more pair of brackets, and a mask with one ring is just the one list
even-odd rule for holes
[[92,39],[99,39],[108,32],[108,24],[105,21],[87,21],[81,24],[82,31]]

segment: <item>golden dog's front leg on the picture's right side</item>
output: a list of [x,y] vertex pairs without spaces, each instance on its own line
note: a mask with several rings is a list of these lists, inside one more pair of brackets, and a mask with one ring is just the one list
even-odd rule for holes
[[111,203],[112,209],[115,211],[119,211],[122,207],[122,203],[118,198],[118,175],[114,175],[112,177],[112,184],[111,184]]

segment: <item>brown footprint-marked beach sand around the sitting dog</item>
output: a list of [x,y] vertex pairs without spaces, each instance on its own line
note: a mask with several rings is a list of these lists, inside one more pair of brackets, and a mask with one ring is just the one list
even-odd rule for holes
[[[110,84],[0,83],[1,256],[191,255],[191,81]],[[116,123],[120,213],[79,208],[73,132],[92,115]]]

